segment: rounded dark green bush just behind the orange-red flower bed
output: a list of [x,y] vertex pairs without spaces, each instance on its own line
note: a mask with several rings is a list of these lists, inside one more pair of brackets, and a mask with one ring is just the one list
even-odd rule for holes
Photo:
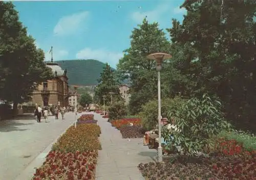
[[126,109],[123,102],[116,102],[109,107],[109,120],[121,119],[126,115]]

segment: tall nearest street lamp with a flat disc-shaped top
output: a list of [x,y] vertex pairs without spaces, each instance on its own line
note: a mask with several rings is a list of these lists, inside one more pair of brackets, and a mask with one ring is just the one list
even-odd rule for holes
[[157,87],[158,87],[158,162],[162,162],[163,149],[161,144],[161,84],[160,84],[160,71],[162,69],[162,62],[165,59],[172,58],[171,55],[166,53],[154,53],[147,56],[148,59],[156,60],[157,62]]

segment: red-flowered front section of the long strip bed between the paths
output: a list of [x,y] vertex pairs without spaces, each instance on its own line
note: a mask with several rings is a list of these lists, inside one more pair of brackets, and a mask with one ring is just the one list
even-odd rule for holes
[[51,151],[44,164],[36,169],[33,180],[95,179],[97,151],[64,153]]

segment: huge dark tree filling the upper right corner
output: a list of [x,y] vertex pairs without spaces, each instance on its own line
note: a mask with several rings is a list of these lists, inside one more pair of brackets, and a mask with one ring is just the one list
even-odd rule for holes
[[226,118],[251,130],[256,107],[256,3],[197,1],[184,4],[182,24],[169,29],[173,46],[184,47],[180,71],[195,95],[216,94],[224,102]]

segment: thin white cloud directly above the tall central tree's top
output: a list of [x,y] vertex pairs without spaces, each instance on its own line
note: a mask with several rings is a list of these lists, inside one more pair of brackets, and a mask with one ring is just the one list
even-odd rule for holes
[[145,17],[147,18],[148,21],[159,21],[161,16],[168,10],[170,10],[169,4],[161,4],[152,11],[133,12],[131,14],[131,18],[137,23],[141,23]]

